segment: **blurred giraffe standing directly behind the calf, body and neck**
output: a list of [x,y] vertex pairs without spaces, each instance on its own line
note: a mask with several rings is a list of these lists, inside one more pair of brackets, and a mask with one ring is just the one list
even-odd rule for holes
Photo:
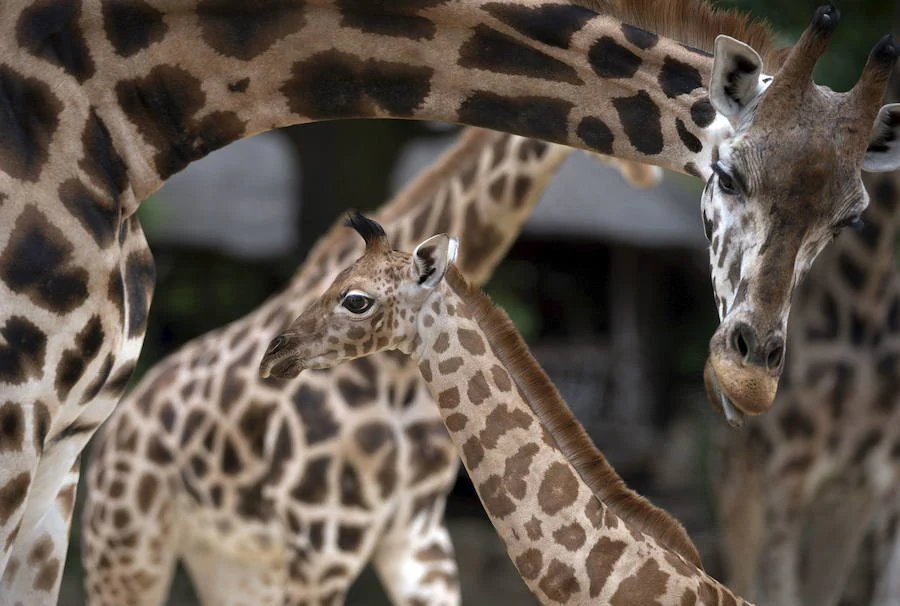
[[[569,151],[470,129],[379,217],[396,246],[465,234],[460,267],[483,283]],[[257,378],[269,341],[360,250],[335,227],[283,293],[123,400],[88,470],[89,603],[162,603],[178,558],[207,604],[338,604],[369,560],[397,604],[458,603],[442,515],[458,460],[415,364]]]

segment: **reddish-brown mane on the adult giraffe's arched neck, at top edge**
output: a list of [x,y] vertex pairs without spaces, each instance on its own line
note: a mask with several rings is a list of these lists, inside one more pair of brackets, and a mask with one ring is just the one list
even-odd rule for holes
[[772,26],[737,9],[717,8],[706,0],[574,0],[688,46],[712,53],[716,36],[725,34],[753,47],[767,73],[774,73],[787,56],[775,47]]

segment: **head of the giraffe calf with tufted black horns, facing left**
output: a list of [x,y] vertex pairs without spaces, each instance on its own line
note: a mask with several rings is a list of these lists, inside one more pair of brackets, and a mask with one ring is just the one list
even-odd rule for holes
[[410,353],[418,311],[443,279],[459,243],[433,236],[412,254],[391,250],[382,227],[359,213],[348,225],[366,250],[269,344],[260,375],[291,378],[386,349]]

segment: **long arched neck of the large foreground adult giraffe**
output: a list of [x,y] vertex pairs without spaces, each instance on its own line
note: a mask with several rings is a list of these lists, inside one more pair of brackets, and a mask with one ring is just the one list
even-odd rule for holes
[[88,2],[50,33],[42,9],[0,10],[15,77],[60,72],[32,95],[46,121],[94,111],[137,200],[235,139],[315,120],[460,122],[679,171],[721,135],[706,53],[573,2]]

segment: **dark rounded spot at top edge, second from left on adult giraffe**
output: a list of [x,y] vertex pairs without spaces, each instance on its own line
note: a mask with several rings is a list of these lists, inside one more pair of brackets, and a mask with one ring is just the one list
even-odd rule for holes
[[168,26],[163,13],[144,0],[104,0],[103,29],[121,57],[131,57],[163,39]]

